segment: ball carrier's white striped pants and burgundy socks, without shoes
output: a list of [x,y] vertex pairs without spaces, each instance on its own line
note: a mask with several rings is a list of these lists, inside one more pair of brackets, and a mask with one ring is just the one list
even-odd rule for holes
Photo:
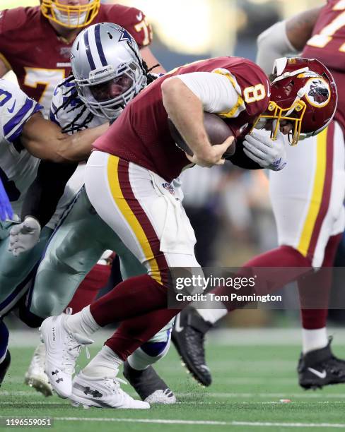
[[[165,184],[163,179],[157,179],[147,169],[101,152],[94,152],[90,160],[86,172],[90,201],[134,256],[146,266],[147,274],[121,282],[117,289],[95,301],[90,308],[64,318],[65,328],[88,337],[107,323],[119,320],[128,323],[129,318],[164,308],[159,319],[156,317],[153,323],[145,321],[146,328],[143,329],[141,321],[139,328],[134,326],[131,332],[119,332],[118,337],[112,340],[112,353],[106,353],[111,361],[105,361],[102,356],[98,358],[98,370],[104,371],[106,367],[102,365],[106,363],[116,373],[118,364],[177,313],[165,309],[168,305],[169,265],[194,268],[198,263],[194,257],[192,228],[180,200],[161,186],[160,182]],[[103,191],[101,196],[100,191]],[[85,382],[85,377],[82,381]]]

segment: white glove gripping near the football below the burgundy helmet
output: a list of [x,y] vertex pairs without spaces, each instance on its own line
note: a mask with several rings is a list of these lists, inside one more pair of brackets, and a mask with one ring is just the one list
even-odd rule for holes
[[281,132],[277,133],[276,140],[271,140],[267,131],[255,129],[251,135],[245,136],[243,146],[245,155],[262,168],[280,171],[287,163],[284,138]]

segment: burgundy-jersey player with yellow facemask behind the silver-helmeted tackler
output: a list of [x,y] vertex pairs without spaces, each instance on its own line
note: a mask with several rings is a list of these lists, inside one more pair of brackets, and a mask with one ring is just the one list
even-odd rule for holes
[[13,70],[23,92],[40,102],[47,116],[55,85],[71,72],[76,35],[95,23],[121,25],[133,35],[148,67],[158,63],[148,48],[151,25],[139,9],[100,0],[41,0],[40,6],[0,11],[0,77]]

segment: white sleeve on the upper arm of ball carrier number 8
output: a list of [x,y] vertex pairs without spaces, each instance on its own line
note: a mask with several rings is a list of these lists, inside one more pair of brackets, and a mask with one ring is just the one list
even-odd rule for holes
[[245,109],[241,95],[226,75],[213,72],[192,72],[174,78],[182,80],[189,90],[199,97],[206,112],[223,114],[236,108],[233,117],[237,117]]

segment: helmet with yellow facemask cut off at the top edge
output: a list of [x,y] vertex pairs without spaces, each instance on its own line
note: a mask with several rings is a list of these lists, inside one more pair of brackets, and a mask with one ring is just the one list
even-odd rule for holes
[[67,28],[81,28],[90,24],[98,14],[100,0],[88,0],[87,4],[61,4],[59,0],[40,0],[41,12],[48,20]]

